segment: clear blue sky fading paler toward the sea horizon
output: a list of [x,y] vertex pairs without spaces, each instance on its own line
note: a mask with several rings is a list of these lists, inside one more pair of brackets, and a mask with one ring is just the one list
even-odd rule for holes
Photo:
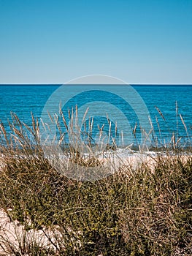
[[192,84],[192,0],[0,0],[0,83]]

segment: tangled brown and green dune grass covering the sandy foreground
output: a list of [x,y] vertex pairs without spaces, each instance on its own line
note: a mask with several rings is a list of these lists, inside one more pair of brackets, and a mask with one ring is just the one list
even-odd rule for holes
[[[0,230],[5,255],[192,254],[192,157],[180,154],[174,137],[174,157],[169,150],[158,153],[153,171],[145,162],[122,165],[111,176],[82,182],[47,161],[34,116],[28,127],[12,114],[9,125],[12,137],[1,124],[0,208],[22,232],[15,245]],[[90,165],[73,148],[66,154]],[[98,161],[92,157],[91,166]]]

